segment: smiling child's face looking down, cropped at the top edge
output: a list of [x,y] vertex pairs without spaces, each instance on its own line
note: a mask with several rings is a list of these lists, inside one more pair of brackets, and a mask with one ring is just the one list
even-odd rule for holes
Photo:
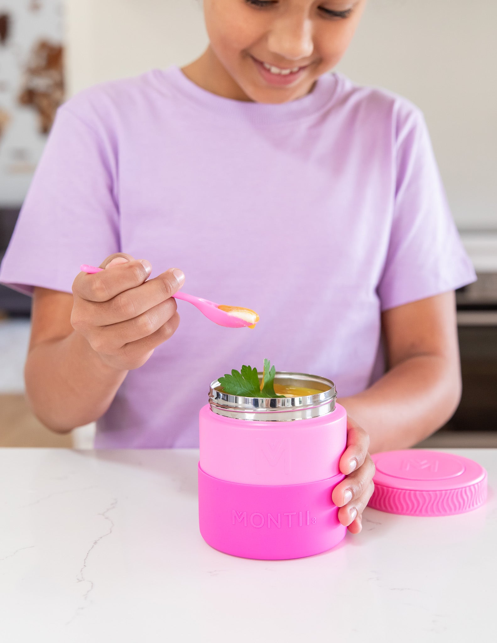
[[249,99],[294,100],[341,59],[365,1],[204,0],[210,48]]

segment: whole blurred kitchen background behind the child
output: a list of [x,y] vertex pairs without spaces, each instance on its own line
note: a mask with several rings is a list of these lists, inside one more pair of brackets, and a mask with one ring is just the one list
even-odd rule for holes
[[[428,446],[497,446],[497,24],[495,0],[369,0],[339,70],[426,116],[478,282],[458,293],[463,399]],[[57,106],[96,82],[185,64],[206,46],[200,0],[0,0],[0,259]],[[0,286],[0,446],[89,448],[23,397],[30,300]]]

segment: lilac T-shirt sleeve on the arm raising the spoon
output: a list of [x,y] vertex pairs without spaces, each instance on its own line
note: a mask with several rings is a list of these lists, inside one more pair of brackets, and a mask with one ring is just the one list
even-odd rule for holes
[[0,269],[0,282],[71,292],[81,264],[120,251],[116,170],[105,132],[57,113]]

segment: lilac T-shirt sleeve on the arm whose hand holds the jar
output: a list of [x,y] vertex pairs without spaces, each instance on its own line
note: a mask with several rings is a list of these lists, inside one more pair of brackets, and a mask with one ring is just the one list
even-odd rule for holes
[[378,285],[382,310],[476,280],[447,204],[422,114],[411,107],[407,114],[399,114],[397,123],[392,228]]

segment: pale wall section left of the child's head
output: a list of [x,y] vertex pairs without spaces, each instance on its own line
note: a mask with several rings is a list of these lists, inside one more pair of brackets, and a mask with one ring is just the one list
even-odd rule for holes
[[65,0],[69,94],[183,65],[207,44],[200,0]]

